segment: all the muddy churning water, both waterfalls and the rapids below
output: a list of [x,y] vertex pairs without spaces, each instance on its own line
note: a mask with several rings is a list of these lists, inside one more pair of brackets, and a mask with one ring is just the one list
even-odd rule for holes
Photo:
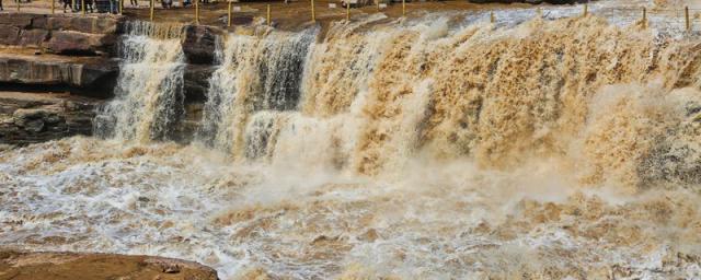
[[179,27],[134,23],[99,137],[1,148],[0,245],[225,279],[701,278],[701,40],[473,20],[229,34],[188,144]]

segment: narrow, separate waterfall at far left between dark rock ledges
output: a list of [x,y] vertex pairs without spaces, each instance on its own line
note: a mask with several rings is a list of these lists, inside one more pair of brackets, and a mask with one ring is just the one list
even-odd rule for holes
[[97,136],[139,142],[171,136],[184,113],[182,32],[180,25],[125,24],[115,98],[97,114]]

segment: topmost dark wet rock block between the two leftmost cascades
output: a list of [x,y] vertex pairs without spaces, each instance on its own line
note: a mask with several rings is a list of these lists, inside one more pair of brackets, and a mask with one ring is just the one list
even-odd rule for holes
[[212,63],[215,61],[216,38],[220,33],[221,31],[218,28],[204,25],[185,27],[183,51],[187,61],[195,65]]

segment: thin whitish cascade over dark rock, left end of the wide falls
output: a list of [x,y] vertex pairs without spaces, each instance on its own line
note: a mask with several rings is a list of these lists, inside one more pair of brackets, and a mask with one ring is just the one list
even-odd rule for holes
[[245,138],[263,136],[245,137],[246,122],[255,112],[276,114],[298,107],[303,66],[315,34],[315,30],[229,34],[217,51],[220,66],[210,79],[200,138],[234,156],[257,155],[245,151]]

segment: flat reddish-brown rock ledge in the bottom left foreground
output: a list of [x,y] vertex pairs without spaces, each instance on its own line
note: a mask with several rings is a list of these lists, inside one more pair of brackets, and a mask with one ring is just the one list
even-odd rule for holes
[[116,254],[0,252],[0,279],[216,280],[194,261]]

